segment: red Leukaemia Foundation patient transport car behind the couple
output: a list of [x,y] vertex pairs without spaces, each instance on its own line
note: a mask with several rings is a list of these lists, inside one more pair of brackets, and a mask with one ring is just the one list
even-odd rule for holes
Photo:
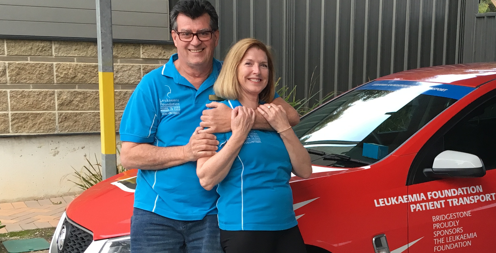
[[[495,251],[496,63],[385,76],[294,130],[314,164],[290,183],[309,253]],[[50,252],[129,252],[135,176],[74,199]]]

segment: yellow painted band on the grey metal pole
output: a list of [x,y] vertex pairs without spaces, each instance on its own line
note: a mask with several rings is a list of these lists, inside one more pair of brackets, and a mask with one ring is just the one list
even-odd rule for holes
[[116,153],[114,72],[98,72],[100,88],[100,137],[103,154]]

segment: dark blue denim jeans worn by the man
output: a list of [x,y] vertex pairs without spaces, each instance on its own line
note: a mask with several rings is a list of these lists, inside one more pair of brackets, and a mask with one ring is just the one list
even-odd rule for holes
[[175,220],[134,207],[131,253],[223,253],[217,215]]

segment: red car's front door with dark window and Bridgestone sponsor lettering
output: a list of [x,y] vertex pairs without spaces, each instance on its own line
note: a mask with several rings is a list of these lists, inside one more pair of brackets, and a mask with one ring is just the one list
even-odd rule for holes
[[[496,84],[486,84],[494,87]],[[486,175],[476,178],[426,177],[443,151],[477,155]],[[408,207],[410,253],[493,252],[496,248],[496,90],[461,109],[416,154],[408,194],[419,194]],[[424,196],[424,198],[422,198]],[[412,246],[415,244],[415,246]]]

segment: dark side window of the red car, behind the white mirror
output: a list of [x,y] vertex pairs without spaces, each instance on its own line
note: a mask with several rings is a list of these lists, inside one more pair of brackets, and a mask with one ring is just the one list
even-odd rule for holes
[[411,183],[435,180],[427,178],[422,171],[432,168],[435,156],[446,150],[475,154],[482,159],[486,170],[496,168],[496,97],[478,103],[469,106],[475,107],[469,112],[455,116],[453,120],[461,119],[451,127],[440,129],[419,151],[411,168],[414,173]]

